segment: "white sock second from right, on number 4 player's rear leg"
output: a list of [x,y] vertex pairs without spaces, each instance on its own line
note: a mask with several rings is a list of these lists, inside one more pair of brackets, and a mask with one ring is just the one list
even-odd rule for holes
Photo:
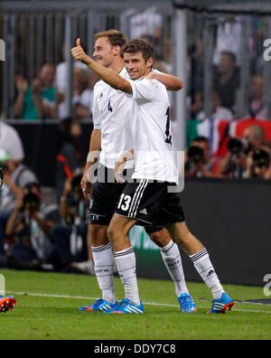
[[164,259],[164,265],[171,278],[173,278],[177,297],[180,297],[182,293],[189,295],[182,269],[182,258],[178,246],[173,242],[173,240],[171,240],[170,243],[163,249],[160,249],[160,251],[162,258]]

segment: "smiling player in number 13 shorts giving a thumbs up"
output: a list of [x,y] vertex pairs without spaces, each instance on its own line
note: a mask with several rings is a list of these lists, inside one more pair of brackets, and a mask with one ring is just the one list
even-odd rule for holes
[[[153,66],[152,46],[140,39],[124,46],[123,56],[130,80],[123,79],[90,59],[81,48],[79,39],[77,47],[71,52],[75,60],[86,63],[112,88],[133,97],[131,128],[135,173],[132,178],[136,179],[136,183],[126,184],[107,230],[126,297],[117,307],[105,313],[144,313],[137,287],[135,252],[127,237],[127,232],[142,220],[154,226],[164,223],[173,240],[187,252],[195,269],[210,288],[213,295],[210,313],[225,313],[234,306],[234,302],[221,286],[207,249],[188,230],[179,195],[168,193],[168,185],[178,183],[178,173],[173,156],[165,155],[172,150],[167,122],[167,92],[162,83],[148,79]],[[143,155],[142,151],[148,155]]]

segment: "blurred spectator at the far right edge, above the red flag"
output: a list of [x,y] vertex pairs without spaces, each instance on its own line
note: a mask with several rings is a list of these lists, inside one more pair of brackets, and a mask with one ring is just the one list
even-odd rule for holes
[[265,98],[265,80],[261,75],[253,76],[251,80],[251,97],[248,102],[248,114],[250,118],[267,119],[267,107]]

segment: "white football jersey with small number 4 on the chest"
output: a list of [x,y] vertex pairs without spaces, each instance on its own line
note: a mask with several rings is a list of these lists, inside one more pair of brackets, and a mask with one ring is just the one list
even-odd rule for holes
[[[119,75],[128,80],[126,68]],[[101,130],[100,164],[115,168],[119,157],[133,149],[133,136],[130,127],[133,100],[124,92],[113,89],[103,80],[94,87],[93,124]],[[133,161],[126,167],[133,167]]]

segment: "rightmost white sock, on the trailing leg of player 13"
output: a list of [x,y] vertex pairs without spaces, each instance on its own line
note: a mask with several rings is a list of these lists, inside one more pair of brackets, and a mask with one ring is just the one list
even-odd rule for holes
[[201,278],[210,288],[214,299],[220,299],[224,293],[223,287],[220,285],[220,280],[213,268],[207,249],[203,249],[200,252],[190,256],[194,264],[195,269],[199,272]]

